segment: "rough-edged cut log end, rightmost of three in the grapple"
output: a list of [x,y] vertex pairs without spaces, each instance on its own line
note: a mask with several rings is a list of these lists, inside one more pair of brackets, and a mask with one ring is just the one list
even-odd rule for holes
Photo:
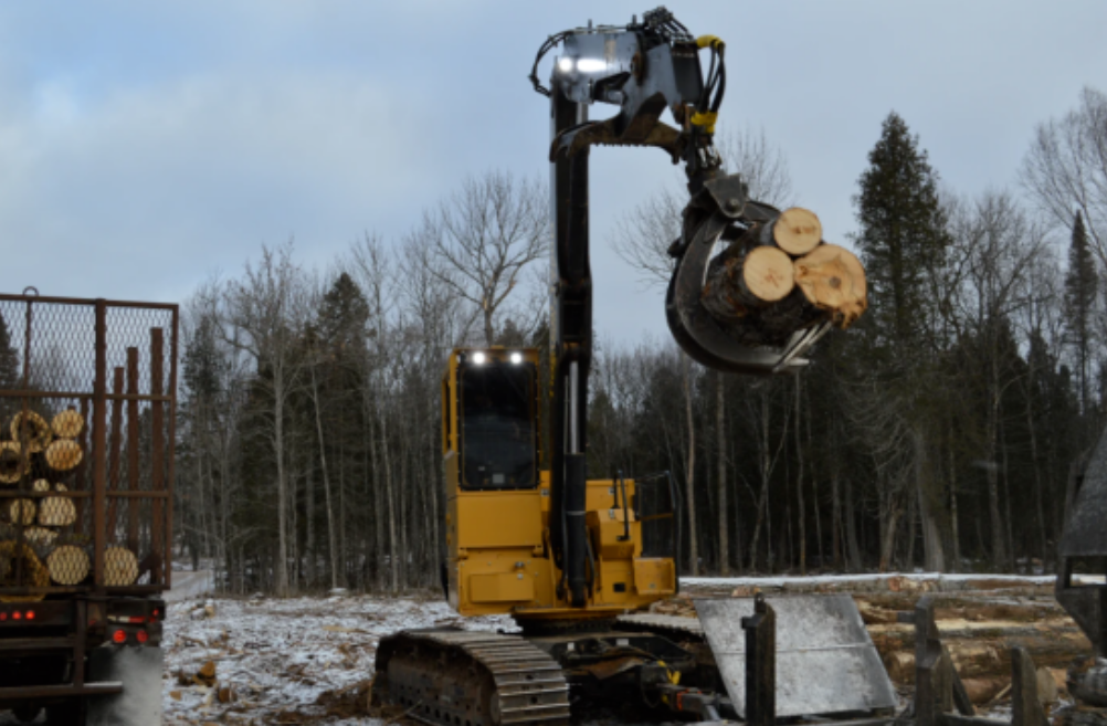
[[868,308],[868,288],[860,260],[838,245],[819,245],[795,262],[796,287],[815,308],[830,314],[841,329]]

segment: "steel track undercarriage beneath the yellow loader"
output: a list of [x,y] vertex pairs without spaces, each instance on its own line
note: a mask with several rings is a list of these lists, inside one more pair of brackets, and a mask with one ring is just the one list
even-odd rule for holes
[[714,689],[710,649],[694,628],[604,624],[535,635],[397,633],[377,650],[373,698],[435,726],[566,726],[570,715],[600,712],[734,716]]

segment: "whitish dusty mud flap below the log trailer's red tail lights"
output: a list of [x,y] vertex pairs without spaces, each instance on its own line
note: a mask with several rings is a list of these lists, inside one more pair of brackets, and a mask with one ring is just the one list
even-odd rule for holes
[[91,681],[118,681],[123,693],[89,698],[87,726],[159,726],[161,647],[102,645],[89,658]]

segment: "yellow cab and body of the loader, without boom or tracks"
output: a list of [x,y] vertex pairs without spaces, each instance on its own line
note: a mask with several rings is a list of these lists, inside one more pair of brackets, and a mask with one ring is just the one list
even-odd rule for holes
[[[476,363],[479,360],[480,363]],[[642,557],[642,522],[634,508],[635,485],[589,480],[586,523],[594,562],[592,588],[583,608],[559,597],[561,571],[550,554],[550,476],[539,469],[542,439],[538,381],[539,354],[532,349],[457,349],[443,376],[443,458],[446,483],[446,574],[449,604],[462,615],[511,614],[519,620],[611,616],[649,605],[676,591],[672,559]],[[483,424],[475,407],[488,404],[489,386],[514,391],[514,418]],[[506,376],[506,377],[505,377]],[[518,397],[526,380],[526,416]],[[466,383],[468,382],[468,383]],[[468,400],[467,400],[468,398]],[[488,431],[492,431],[489,435]],[[477,436],[514,447],[513,460],[532,452],[532,469],[508,475],[485,471]],[[505,443],[513,439],[509,443]],[[494,468],[494,467],[488,467]],[[521,471],[523,464],[516,467]],[[494,484],[493,480],[497,479]]]

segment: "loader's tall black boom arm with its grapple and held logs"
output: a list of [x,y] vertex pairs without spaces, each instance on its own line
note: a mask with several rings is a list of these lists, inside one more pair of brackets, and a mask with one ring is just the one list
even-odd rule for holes
[[[546,87],[538,80],[538,64],[558,45],[561,54],[555,59],[550,86]],[[706,76],[701,51],[710,54]],[[552,135],[551,544],[565,573],[560,591],[573,606],[586,603],[588,585],[583,497],[592,360],[590,148],[597,144],[656,146],[674,164],[684,163],[691,199],[683,212],[683,232],[670,249],[674,269],[665,315],[676,342],[695,361],[737,373],[792,372],[806,363],[799,356],[832,323],[845,326],[863,310],[863,273],[845,250],[829,256],[813,274],[820,281],[829,280],[823,289],[829,290],[830,297],[840,298],[842,287],[850,288],[847,293],[852,299],[860,297],[861,304],[853,313],[844,315],[840,303],[824,304],[826,294],[813,299],[814,293],[805,289],[805,298],[797,288],[790,297],[782,295],[772,317],[758,318],[764,301],[746,293],[745,282],[738,282],[733,294],[727,289],[716,290],[716,299],[723,300],[722,314],[718,304],[704,304],[712,284],[725,287],[727,271],[743,269],[753,250],[765,247],[765,239],[773,235],[782,239],[785,227],[779,222],[779,210],[748,199],[741,177],[723,172],[715,149],[714,126],[726,90],[724,51],[718,38],[694,38],[672,13],[658,8],[646,12],[641,22],[635,18],[624,27],[593,28],[589,23],[551,35],[531,71],[535,90],[550,98]],[[619,111],[604,121],[589,121],[588,108],[593,103],[613,104]],[[676,127],[661,121],[666,110]],[[821,228],[797,227],[792,232],[814,235],[815,245],[821,237]],[[728,243],[731,251],[716,259],[714,250],[721,241]],[[770,271],[767,281],[783,286],[777,277],[786,276],[787,293],[793,289],[793,262],[779,250],[774,248],[773,252],[784,260],[783,273]],[[764,257],[765,250],[759,253]],[[850,278],[855,267],[857,273]],[[708,272],[716,269],[720,277],[712,282]],[[855,289],[858,284],[859,290]]]

